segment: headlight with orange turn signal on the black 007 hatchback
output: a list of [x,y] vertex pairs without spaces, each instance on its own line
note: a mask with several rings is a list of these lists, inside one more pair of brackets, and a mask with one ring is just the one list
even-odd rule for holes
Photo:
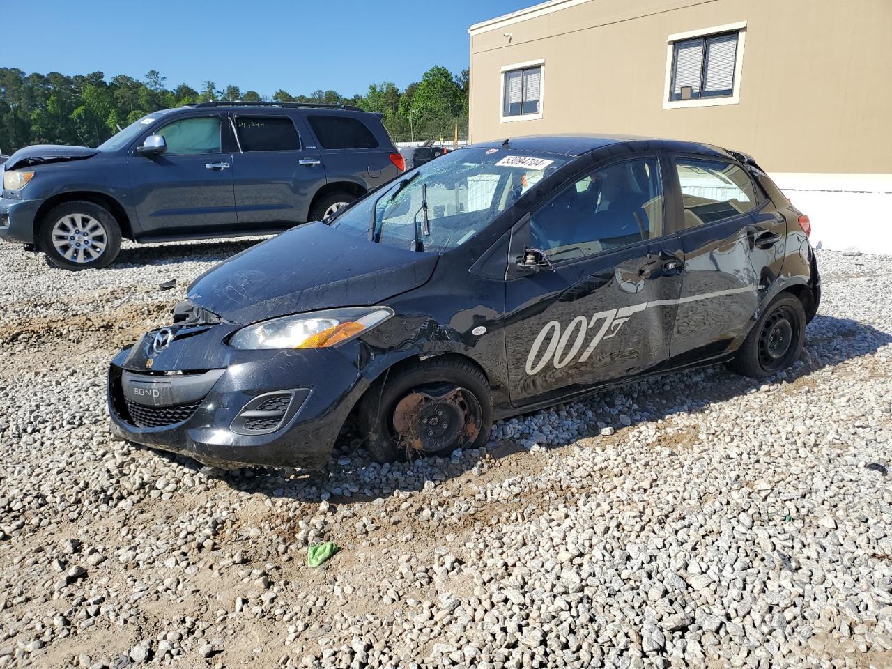
[[272,318],[238,330],[236,349],[326,349],[348,342],[392,317],[387,307],[348,307]]

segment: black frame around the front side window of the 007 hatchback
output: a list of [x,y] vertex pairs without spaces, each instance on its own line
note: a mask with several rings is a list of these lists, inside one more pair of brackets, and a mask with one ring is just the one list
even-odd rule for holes
[[[595,172],[601,169],[608,169],[615,165],[622,164],[624,162],[630,161],[647,161],[647,160],[657,161],[657,178],[659,178],[660,188],[663,191],[663,226],[660,230],[660,234],[652,237],[648,237],[647,239],[640,239],[636,242],[630,242],[629,244],[623,244],[622,246],[615,246],[610,249],[604,249],[603,251],[599,251],[596,253],[591,253],[591,255],[583,255],[578,258],[567,258],[566,260],[552,260],[551,264],[556,268],[567,267],[570,265],[574,265],[578,262],[589,262],[593,259],[602,258],[609,253],[614,253],[617,251],[625,251],[626,249],[634,248],[639,244],[653,244],[654,242],[659,242],[660,240],[665,239],[666,237],[672,236],[675,234],[675,215],[670,212],[670,208],[674,210],[674,201],[675,196],[672,192],[672,188],[678,188],[678,172],[675,170],[674,161],[670,160],[671,156],[662,151],[642,151],[640,153],[635,153],[633,156],[624,155],[624,156],[615,156],[609,158],[604,161],[597,161],[587,167],[580,169],[577,172],[574,172],[573,175],[566,178],[562,181],[558,186],[555,186],[547,197],[543,198],[541,202],[538,202],[533,209],[528,211],[524,218],[521,219],[520,222],[527,220],[529,223],[533,222],[533,218],[536,214],[545,209],[549,205],[549,202],[552,201],[559,194],[564,192],[565,188],[570,188],[575,186],[576,183],[581,181],[583,178],[594,174]],[[673,173],[675,176],[673,177]],[[681,191],[678,191],[681,193]],[[681,203],[681,195],[678,197],[679,203]],[[527,232],[532,234],[532,230],[530,230],[529,225],[526,226]],[[530,240],[527,239],[525,244],[529,245]]]

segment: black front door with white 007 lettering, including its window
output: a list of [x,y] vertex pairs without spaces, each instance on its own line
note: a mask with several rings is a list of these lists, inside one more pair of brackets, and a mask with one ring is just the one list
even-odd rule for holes
[[513,231],[511,255],[525,249],[538,263],[506,286],[516,406],[646,372],[668,358],[681,259],[665,245],[672,238],[664,235],[661,164],[647,155],[595,167]]

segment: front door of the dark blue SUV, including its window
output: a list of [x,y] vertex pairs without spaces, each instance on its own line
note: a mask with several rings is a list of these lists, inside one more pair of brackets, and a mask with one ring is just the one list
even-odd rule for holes
[[167,151],[149,157],[135,147],[128,157],[141,236],[231,232],[236,222],[232,153],[224,145],[220,114],[179,117],[151,132],[164,137]]

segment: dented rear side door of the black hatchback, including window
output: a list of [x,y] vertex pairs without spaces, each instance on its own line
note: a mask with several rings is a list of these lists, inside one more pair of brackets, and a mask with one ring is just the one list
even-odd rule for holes
[[684,362],[746,334],[780,274],[786,221],[737,162],[678,155],[673,164],[684,268],[672,356]]

